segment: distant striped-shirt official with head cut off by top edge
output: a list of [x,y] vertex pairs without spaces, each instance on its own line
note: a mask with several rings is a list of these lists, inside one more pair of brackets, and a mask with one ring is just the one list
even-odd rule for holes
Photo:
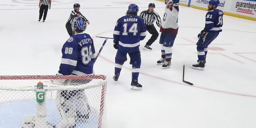
[[43,14],[44,14],[43,22],[45,21],[47,12],[48,12],[48,8],[51,9],[51,2],[52,2],[52,0],[40,0],[40,2],[39,2],[39,8],[40,8],[39,9],[39,20],[38,21],[41,21]]

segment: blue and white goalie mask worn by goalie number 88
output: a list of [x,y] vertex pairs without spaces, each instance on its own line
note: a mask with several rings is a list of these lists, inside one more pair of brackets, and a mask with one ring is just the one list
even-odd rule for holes
[[74,18],[74,20],[72,21],[72,30],[86,30],[87,24],[86,24],[86,20],[80,16],[77,16]]

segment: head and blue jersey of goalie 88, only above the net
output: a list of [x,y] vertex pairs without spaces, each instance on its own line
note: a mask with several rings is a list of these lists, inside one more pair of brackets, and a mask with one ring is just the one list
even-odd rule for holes
[[87,24],[84,18],[76,17],[72,22],[75,32],[62,47],[59,73],[63,75],[93,74],[93,62],[96,57],[94,43],[89,34],[84,33]]

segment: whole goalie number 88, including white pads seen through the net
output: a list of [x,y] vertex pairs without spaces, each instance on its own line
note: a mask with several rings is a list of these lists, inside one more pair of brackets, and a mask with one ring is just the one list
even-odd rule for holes
[[[86,75],[93,73],[96,57],[94,43],[89,34],[84,33],[86,19],[76,17],[72,21],[72,35],[62,47],[60,70],[57,75]],[[89,118],[90,107],[83,90],[58,91],[58,110],[62,120],[58,128],[75,128],[76,120]]]

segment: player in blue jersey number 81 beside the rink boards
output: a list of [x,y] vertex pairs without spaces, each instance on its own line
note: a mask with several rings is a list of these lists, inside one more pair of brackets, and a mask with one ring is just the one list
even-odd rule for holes
[[208,12],[206,14],[206,22],[204,30],[198,34],[198,42],[196,43],[198,64],[193,64],[192,68],[197,70],[204,70],[206,63],[206,54],[208,45],[222,32],[223,12],[217,9],[220,4],[219,0],[210,0],[208,2]]

